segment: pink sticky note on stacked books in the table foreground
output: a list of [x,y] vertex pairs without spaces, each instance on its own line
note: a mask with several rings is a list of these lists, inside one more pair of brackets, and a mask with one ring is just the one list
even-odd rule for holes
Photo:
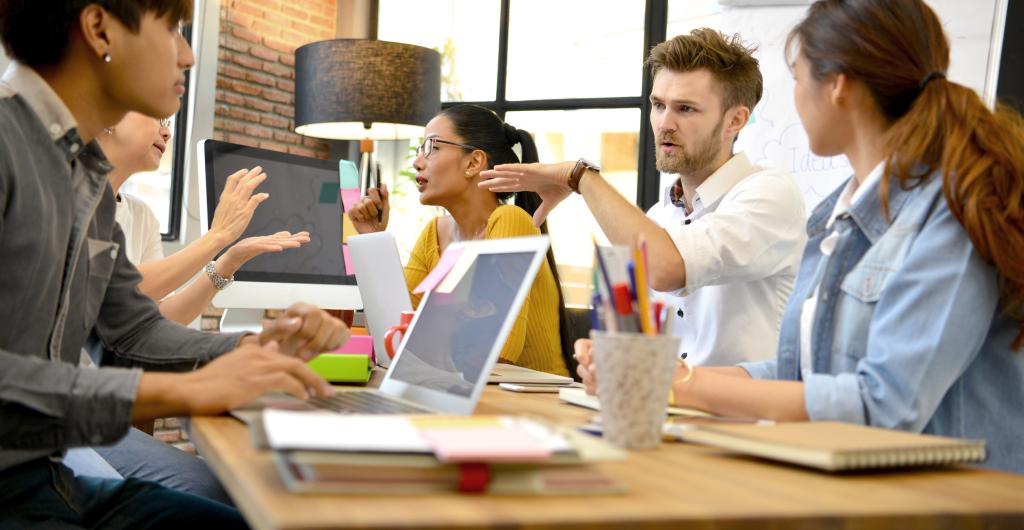
[[515,427],[427,429],[420,436],[441,461],[540,461],[551,456],[543,441]]

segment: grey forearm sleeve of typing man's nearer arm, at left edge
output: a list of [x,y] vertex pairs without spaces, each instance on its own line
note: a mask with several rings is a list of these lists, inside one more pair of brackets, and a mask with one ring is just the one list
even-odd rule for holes
[[142,371],[80,368],[0,351],[0,448],[114,443],[131,427]]

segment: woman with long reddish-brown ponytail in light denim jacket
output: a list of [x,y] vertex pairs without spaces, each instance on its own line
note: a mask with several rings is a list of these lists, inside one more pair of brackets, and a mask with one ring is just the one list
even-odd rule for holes
[[818,1],[786,48],[811,149],[854,174],[808,221],[777,358],[680,366],[675,401],[984,439],[1024,473],[1024,121],[945,79],[921,0]]

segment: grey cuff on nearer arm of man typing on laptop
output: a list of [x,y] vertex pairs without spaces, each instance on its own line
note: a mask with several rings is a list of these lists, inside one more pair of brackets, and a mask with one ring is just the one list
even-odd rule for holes
[[80,418],[69,441],[110,445],[124,437],[131,427],[135,393],[142,370],[133,368],[80,368],[72,386],[71,406],[65,417]]

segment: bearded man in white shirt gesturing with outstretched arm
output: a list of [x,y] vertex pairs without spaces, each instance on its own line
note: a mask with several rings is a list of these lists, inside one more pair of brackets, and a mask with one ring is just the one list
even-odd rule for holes
[[[650,285],[674,312],[680,355],[695,364],[774,355],[806,241],[804,201],[793,179],[732,152],[761,99],[752,51],[738,35],[707,28],[651,50],[646,64],[654,76],[650,123],[657,169],[679,178],[646,216],[585,160],[497,166],[480,184],[540,193],[544,203],[535,223],[579,192],[612,244],[632,245],[642,236]],[[577,344],[578,355],[588,350],[589,341]]]

